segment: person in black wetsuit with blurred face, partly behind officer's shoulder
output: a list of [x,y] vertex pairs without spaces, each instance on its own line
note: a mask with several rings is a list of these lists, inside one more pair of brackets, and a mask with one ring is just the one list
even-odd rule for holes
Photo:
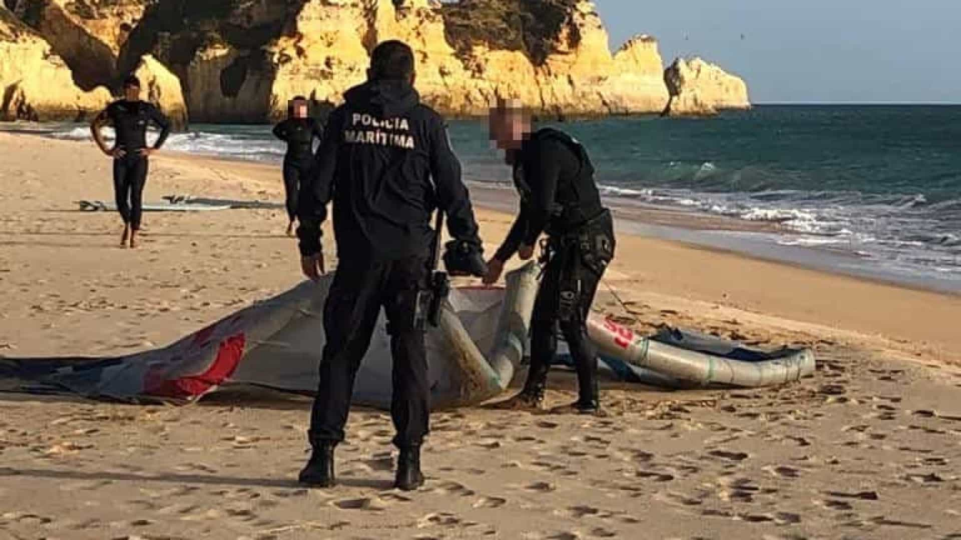
[[313,139],[324,135],[320,122],[308,116],[307,98],[297,96],[287,108],[287,119],[274,126],[274,136],[287,143],[283,157],[283,188],[286,191],[287,235],[294,232],[297,219],[297,197],[302,179],[313,161]]

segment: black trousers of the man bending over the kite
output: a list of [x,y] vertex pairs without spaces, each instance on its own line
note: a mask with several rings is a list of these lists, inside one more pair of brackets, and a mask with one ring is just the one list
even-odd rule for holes
[[587,336],[587,316],[607,262],[614,255],[609,214],[580,233],[552,238],[530,321],[530,371],[525,392],[542,391],[564,335],[578,372],[579,402],[597,401],[597,347]]

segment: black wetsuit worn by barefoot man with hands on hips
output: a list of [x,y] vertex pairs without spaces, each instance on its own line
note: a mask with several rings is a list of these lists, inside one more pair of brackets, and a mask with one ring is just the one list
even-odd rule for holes
[[170,135],[170,121],[154,105],[145,101],[120,100],[104,110],[109,125],[116,132],[115,146],[124,155],[113,159],[113,192],[117,211],[123,222],[134,231],[140,229],[143,212],[143,187],[147,183],[148,160],[140,155],[147,146],[147,127],[151,122],[160,128],[154,149],[160,150]]

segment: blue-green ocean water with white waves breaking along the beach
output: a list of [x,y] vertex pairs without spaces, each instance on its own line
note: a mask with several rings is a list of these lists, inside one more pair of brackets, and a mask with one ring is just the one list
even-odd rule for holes
[[[730,234],[770,244],[765,251],[775,257],[775,246],[806,248],[841,257],[857,273],[961,291],[961,107],[760,106],[709,119],[560,127],[585,144],[612,205],[775,222],[784,233]],[[71,124],[0,129],[89,136]],[[451,138],[467,180],[509,182],[484,122],[452,121]],[[172,135],[168,148],[283,157],[268,126],[193,125]]]

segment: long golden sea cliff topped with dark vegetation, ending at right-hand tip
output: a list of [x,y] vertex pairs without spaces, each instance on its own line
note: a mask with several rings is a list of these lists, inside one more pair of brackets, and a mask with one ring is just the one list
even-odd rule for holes
[[116,91],[147,69],[160,106],[195,122],[275,120],[298,94],[333,107],[391,38],[414,48],[418,90],[448,114],[483,114],[499,96],[550,115],[659,112],[672,95],[674,114],[750,107],[740,79],[702,61],[676,70],[672,94],[656,41],[612,54],[586,0],[6,2],[82,89]]

